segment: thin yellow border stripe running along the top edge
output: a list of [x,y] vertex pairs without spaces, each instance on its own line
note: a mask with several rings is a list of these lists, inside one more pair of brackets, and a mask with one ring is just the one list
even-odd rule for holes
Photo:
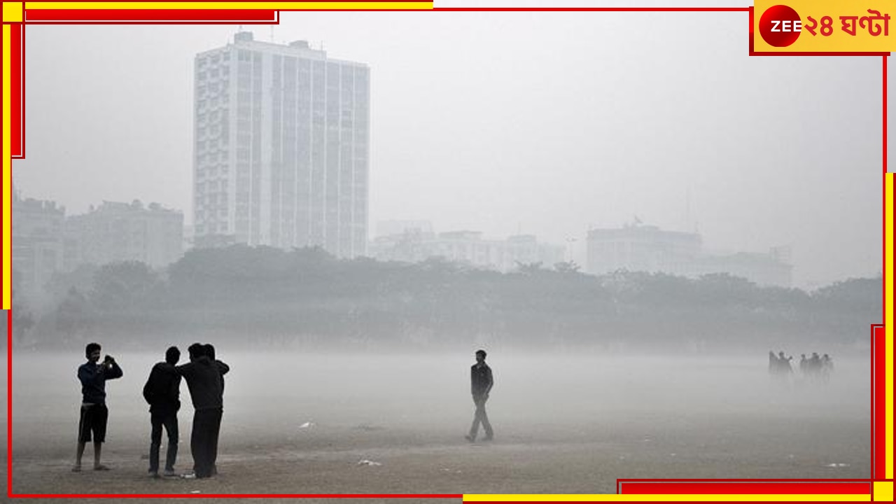
[[25,2],[39,9],[432,9],[432,2]]

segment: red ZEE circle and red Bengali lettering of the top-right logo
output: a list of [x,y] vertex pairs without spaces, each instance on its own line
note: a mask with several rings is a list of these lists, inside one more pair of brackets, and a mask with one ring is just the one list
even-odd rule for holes
[[[840,31],[849,36],[856,37],[858,30],[868,30],[868,35],[884,37],[890,35],[890,14],[871,9],[866,10],[867,15],[838,16]],[[762,13],[759,18],[759,33],[762,39],[770,46],[786,48],[799,38],[800,33],[808,31],[813,37],[831,37],[834,33],[834,19],[831,16],[806,16],[803,21],[797,11],[787,5],[774,5]]]

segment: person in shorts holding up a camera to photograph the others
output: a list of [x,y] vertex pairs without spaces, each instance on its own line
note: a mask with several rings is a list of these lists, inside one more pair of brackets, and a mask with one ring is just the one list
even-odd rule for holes
[[88,441],[93,441],[93,470],[108,471],[106,465],[99,463],[102,443],[106,441],[106,423],[108,408],[106,407],[106,380],[124,376],[118,363],[107,355],[99,363],[102,347],[99,343],[88,343],[84,349],[87,362],[78,368],[78,379],[81,380],[81,420],[78,421],[78,452],[75,456],[74,472],[81,471],[81,458]]

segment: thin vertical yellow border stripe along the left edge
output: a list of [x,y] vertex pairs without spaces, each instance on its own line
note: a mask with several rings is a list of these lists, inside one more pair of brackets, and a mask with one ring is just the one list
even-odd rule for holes
[[10,309],[13,300],[13,140],[10,132],[10,87],[12,86],[13,27],[3,25],[3,309]]

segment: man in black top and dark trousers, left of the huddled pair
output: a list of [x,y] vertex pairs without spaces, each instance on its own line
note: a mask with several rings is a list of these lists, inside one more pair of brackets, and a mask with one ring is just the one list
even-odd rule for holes
[[177,460],[177,410],[180,409],[180,375],[175,365],[180,360],[177,346],[168,348],[165,361],[152,367],[150,378],[143,386],[143,398],[150,404],[152,424],[150,441],[150,475],[159,477],[159,448],[162,442],[162,426],[168,432],[168,453],[165,456],[165,475],[173,476]]

